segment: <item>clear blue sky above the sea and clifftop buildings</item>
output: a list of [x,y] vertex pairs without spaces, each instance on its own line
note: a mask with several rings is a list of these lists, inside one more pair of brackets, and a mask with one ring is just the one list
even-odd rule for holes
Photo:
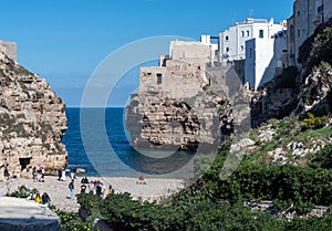
[[[85,84],[98,63],[127,43],[156,35],[199,40],[200,34],[217,34],[248,17],[273,18],[278,23],[291,15],[292,3],[0,0],[0,40],[17,42],[19,63],[45,78],[68,106],[80,106]],[[128,73],[126,83],[129,82],[138,84],[138,67]],[[115,106],[121,106],[125,97],[118,95],[117,101]]]

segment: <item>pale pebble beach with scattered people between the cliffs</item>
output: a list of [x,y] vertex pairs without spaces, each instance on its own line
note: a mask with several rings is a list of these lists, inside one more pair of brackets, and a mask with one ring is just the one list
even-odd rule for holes
[[[75,193],[80,193],[81,190],[81,179],[77,177],[75,179]],[[80,204],[76,198],[70,199],[69,182],[68,177],[65,181],[59,181],[58,177],[45,176],[44,182],[33,181],[32,179],[17,178],[10,180],[11,192],[17,190],[19,186],[27,186],[29,189],[38,189],[42,195],[46,192],[51,198],[51,204],[56,208],[77,212]],[[108,191],[108,186],[112,185],[115,193],[129,192],[133,199],[142,199],[154,201],[159,198],[167,197],[181,188],[184,188],[184,181],[179,179],[145,179],[139,181],[136,178],[102,178],[102,177],[91,177],[89,180],[100,180],[105,185],[106,192]],[[86,189],[86,192],[89,189]],[[1,181],[0,196],[4,196],[7,192],[6,180]]]

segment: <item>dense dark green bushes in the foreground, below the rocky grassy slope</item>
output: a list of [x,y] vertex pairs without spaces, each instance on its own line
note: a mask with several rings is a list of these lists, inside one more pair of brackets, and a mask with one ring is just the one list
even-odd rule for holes
[[[162,203],[139,202],[128,193],[102,200],[79,195],[81,208],[114,230],[324,230],[332,214],[291,222],[276,214],[250,211],[242,199],[273,200],[274,210],[305,214],[314,204],[332,204],[331,147],[311,160],[312,166],[262,166],[245,159],[227,179],[219,178],[230,143],[222,146],[212,166],[194,185]],[[200,160],[203,161],[203,160]],[[314,166],[314,168],[313,168]]]

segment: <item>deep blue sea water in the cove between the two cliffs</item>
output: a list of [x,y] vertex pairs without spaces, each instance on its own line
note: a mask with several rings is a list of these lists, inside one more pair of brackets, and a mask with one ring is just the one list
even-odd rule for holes
[[[68,130],[62,139],[69,153],[69,167],[86,170],[86,176],[137,177],[138,174],[187,178],[193,153],[160,151],[142,155],[129,143],[124,108],[66,108]],[[148,151],[146,151],[147,154]],[[166,154],[167,156],[168,154]]]

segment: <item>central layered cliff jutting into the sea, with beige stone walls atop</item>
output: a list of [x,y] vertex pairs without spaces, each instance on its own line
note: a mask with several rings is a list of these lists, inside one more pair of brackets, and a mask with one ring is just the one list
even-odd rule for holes
[[248,103],[246,109],[237,107],[245,103],[240,90],[228,88],[237,86],[228,84],[235,78],[231,66],[207,67],[173,60],[166,66],[142,69],[139,91],[126,108],[132,144],[216,151],[249,114]]

